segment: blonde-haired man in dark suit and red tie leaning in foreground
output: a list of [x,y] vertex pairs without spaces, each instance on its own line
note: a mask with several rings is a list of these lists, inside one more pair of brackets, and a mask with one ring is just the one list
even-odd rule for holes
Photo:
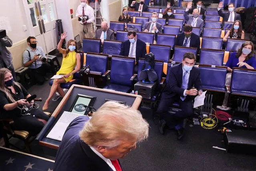
[[138,110],[106,102],[91,119],[80,116],[67,128],[54,171],[122,171],[119,158],[148,137],[149,124]]

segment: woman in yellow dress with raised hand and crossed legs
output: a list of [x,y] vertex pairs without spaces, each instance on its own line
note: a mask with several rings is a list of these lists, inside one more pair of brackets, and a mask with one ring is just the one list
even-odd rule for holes
[[[60,88],[61,83],[67,83],[73,79],[73,74],[77,73],[80,70],[81,61],[80,55],[78,53],[77,42],[73,39],[68,41],[68,49],[62,49],[61,45],[63,40],[67,37],[67,32],[60,36],[60,42],[58,43],[58,51],[63,55],[62,64],[60,70],[56,73],[56,75],[64,75],[64,77],[60,79],[54,79],[52,87],[50,88],[50,94],[46,99],[42,110],[47,110],[49,106],[50,99],[57,91],[60,96],[63,98],[65,96],[64,91]],[[77,68],[75,66],[77,65]]]

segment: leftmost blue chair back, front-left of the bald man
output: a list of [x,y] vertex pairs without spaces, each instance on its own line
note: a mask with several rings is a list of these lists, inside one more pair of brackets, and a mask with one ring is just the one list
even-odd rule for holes
[[83,39],[83,51],[93,52],[93,53],[100,53],[101,51],[101,39]]

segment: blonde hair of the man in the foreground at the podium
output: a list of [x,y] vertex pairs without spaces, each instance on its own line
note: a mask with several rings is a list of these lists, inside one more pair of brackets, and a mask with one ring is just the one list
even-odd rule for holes
[[138,110],[118,102],[106,102],[86,122],[79,136],[90,146],[113,148],[123,141],[141,142],[148,137],[149,124]]

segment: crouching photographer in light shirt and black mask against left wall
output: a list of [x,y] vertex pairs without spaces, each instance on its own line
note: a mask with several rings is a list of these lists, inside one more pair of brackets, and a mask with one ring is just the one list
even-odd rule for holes
[[28,48],[23,52],[23,64],[29,68],[29,75],[34,84],[42,85],[48,78],[45,77],[46,71],[50,71],[50,64],[42,47],[36,46],[36,37],[29,36],[27,39]]

